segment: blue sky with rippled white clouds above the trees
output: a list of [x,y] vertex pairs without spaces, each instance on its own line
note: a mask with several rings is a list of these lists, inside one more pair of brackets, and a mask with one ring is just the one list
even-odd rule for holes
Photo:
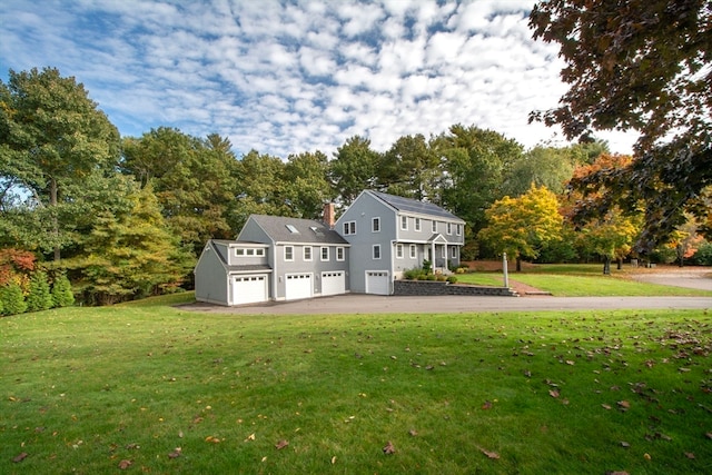
[[[567,90],[556,44],[534,41],[533,0],[3,0],[0,79],[55,67],[119,129],[175,127],[288,158],[333,157],[354,136],[492,129],[564,146],[528,123]],[[630,154],[635,137],[599,133]]]

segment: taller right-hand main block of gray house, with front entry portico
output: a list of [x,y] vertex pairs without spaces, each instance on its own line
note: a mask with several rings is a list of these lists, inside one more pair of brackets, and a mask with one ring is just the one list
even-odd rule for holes
[[439,206],[365,190],[336,221],[350,244],[350,290],[392,294],[394,279],[428,260],[434,271],[459,265],[465,221]]

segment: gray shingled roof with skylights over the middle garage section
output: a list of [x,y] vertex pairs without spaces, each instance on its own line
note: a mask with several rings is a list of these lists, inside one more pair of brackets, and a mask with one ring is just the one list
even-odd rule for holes
[[253,219],[275,243],[348,245],[334,229],[315,219],[251,215]]

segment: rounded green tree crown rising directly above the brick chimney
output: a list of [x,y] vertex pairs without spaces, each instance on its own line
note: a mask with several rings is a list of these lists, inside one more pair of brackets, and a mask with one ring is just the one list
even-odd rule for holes
[[329,162],[329,178],[345,206],[376,180],[379,154],[370,149],[370,140],[354,136],[336,149]]

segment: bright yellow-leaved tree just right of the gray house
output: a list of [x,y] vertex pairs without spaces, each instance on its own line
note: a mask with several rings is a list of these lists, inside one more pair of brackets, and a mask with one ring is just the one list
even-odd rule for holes
[[522,270],[522,259],[536,258],[544,244],[561,237],[558,201],[546,187],[532,186],[518,198],[505,196],[485,215],[487,227],[477,237],[497,253],[514,257],[517,271]]

